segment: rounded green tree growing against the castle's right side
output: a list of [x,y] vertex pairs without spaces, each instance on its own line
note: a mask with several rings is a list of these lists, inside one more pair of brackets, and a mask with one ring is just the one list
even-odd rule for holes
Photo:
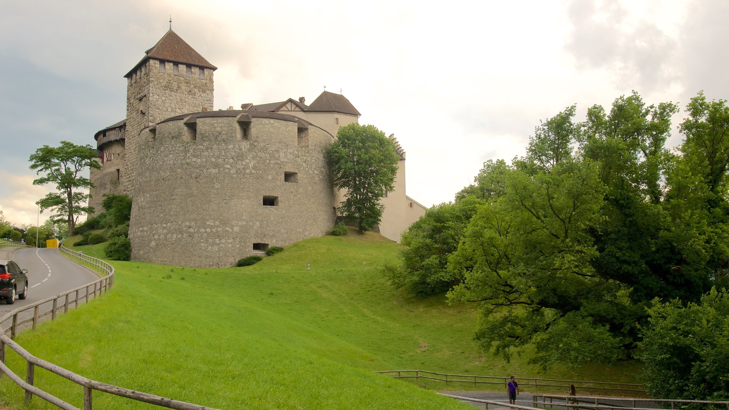
[[386,192],[394,189],[399,155],[385,133],[374,125],[351,123],[339,128],[337,140],[327,150],[334,185],[345,190],[338,210],[359,232],[380,223]]

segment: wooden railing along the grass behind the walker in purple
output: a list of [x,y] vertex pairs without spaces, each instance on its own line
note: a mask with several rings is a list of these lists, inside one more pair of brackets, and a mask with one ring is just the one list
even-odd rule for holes
[[[477,384],[500,384],[506,386],[509,377],[501,376],[475,376],[473,374],[445,374],[426,370],[389,370],[375,371],[375,373],[397,374],[394,379],[430,379],[448,383],[472,383]],[[539,379],[536,377],[517,377],[520,386],[534,386],[536,391],[539,387],[564,387],[569,389],[570,384],[576,384],[575,388],[580,390],[615,390],[620,392],[631,392],[631,394],[645,394],[643,384],[616,383],[616,382],[591,382],[588,380],[562,380],[562,379]],[[496,382],[495,380],[499,380]],[[530,382],[531,381],[531,382]],[[577,385],[579,384],[579,385]]]

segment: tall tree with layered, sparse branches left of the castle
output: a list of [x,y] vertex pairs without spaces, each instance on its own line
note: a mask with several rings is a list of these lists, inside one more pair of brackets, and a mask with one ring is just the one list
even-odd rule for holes
[[83,205],[89,198],[89,194],[83,190],[93,187],[93,184],[87,177],[82,177],[81,171],[86,168],[100,169],[96,156],[96,150],[88,144],[76,145],[61,141],[59,147],[44,145],[30,157],[31,169],[36,174],[44,173],[43,177],[33,181],[33,185],[52,183],[58,190],[48,193],[36,204],[42,210],[52,209],[55,212],[52,220],[55,223],[67,223],[71,236],[74,235],[79,216],[93,212],[93,208]]

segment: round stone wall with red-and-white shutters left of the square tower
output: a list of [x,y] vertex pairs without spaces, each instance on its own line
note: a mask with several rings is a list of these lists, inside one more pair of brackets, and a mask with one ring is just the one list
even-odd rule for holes
[[[105,160],[101,163],[101,169],[91,169],[90,179],[94,187],[91,189],[91,198],[89,198],[89,206],[94,207],[93,217],[95,214],[104,212],[101,201],[104,201],[105,193],[122,194],[125,193],[122,181],[124,180],[126,160],[124,150],[124,140],[112,141],[104,144],[104,152],[114,154],[112,160]],[[102,154],[103,155],[103,154]],[[117,174],[117,169],[119,173]],[[117,179],[117,175],[119,178]]]

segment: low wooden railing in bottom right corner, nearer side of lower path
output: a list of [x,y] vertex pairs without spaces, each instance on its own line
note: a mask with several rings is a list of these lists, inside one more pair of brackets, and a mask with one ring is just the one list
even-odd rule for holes
[[[539,398],[542,398],[542,409],[547,407],[564,407],[567,410],[577,409],[636,409],[636,410],[655,410],[653,408],[636,407],[636,403],[671,403],[671,409],[681,409],[683,404],[723,404],[729,410],[729,401],[708,401],[708,400],[679,400],[670,398],[621,398],[621,397],[601,397],[587,395],[550,395],[535,394],[532,395],[534,407],[539,409]],[[549,399],[549,402],[547,402]],[[554,401],[555,399],[560,401]],[[564,401],[561,402],[561,401]],[[630,403],[630,406],[609,406],[600,404],[600,401],[617,401]],[[589,404],[588,404],[589,403]],[[678,406],[677,406],[678,405]]]

